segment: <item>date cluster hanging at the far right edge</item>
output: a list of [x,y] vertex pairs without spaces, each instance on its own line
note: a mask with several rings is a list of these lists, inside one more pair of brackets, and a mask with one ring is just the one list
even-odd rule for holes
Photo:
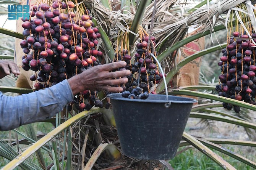
[[[216,86],[219,96],[237,99],[256,105],[253,100],[256,95],[256,66],[255,52],[256,34],[251,38],[245,33],[233,32],[226,49],[222,50],[222,57],[218,65],[222,74],[219,76],[220,84]],[[225,109],[231,110],[232,104],[223,103]],[[235,112],[240,107],[234,106]]]

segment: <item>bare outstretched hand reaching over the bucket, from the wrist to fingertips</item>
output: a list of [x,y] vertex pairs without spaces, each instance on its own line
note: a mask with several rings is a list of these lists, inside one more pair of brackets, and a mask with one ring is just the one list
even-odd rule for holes
[[110,71],[125,66],[125,61],[94,66],[82,72],[81,74],[71,77],[68,79],[68,83],[70,84],[74,95],[84,90],[106,90],[109,92],[122,92],[122,87],[112,86],[127,83],[128,79],[124,76],[130,75],[131,72],[129,70],[115,72]]

